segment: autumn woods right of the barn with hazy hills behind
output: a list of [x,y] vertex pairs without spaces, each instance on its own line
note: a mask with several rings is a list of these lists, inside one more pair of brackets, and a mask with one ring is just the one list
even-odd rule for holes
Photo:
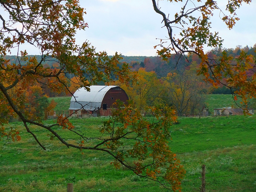
[[[236,58],[242,54],[255,55],[255,46],[252,48],[237,46],[236,49],[213,49],[208,52],[208,58],[212,64],[228,57],[231,63],[236,64]],[[200,58],[196,54],[179,55],[173,54],[168,60],[159,57],[146,57],[144,61],[131,61],[129,65],[133,71],[138,71],[138,80],[131,82],[127,87],[125,84],[116,82],[135,102],[140,110],[147,111],[150,106],[168,105],[175,109],[178,116],[198,115],[202,109],[207,108],[204,102],[205,94],[231,94],[235,89],[226,86],[213,88],[209,83],[203,81],[204,76],[197,75]],[[255,65],[255,63],[251,63]],[[247,71],[248,75],[255,73]],[[225,78],[228,78],[226,76]],[[222,79],[226,83],[226,79]],[[255,100],[250,100],[248,107],[254,105]]]

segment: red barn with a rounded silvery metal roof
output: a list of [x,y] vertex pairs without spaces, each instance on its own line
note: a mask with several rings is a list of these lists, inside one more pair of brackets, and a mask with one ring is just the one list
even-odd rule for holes
[[69,114],[77,117],[108,116],[117,99],[127,104],[128,96],[119,86],[92,85],[90,92],[82,87],[70,100]]

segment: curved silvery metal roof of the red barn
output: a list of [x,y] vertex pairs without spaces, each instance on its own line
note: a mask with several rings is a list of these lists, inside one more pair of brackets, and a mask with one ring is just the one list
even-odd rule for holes
[[83,108],[84,110],[95,110],[101,107],[101,102],[108,90],[119,86],[100,86],[92,85],[90,86],[90,92],[88,92],[84,87],[76,90],[74,97],[70,100],[70,110],[77,110]]

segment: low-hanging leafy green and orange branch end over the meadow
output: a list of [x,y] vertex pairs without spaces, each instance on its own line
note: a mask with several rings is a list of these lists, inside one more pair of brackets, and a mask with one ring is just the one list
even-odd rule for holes
[[165,180],[173,190],[180,189],[185,171],[167,145],[169,128],[176,121],[175,112],[167,106],[150,107],[148,110],[154,119],[147,121],[133,102],[123,107],[123,103],[117,101],[116,106],[112,117],[100,129],[104,146],[116,154],[112,164],[119,168],[126,159],[135,158],[133,166],[128,166],[133,172],[159,182]]

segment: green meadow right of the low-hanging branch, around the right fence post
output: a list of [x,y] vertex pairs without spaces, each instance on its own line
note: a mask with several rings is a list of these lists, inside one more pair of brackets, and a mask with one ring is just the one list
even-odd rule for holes
[[[255,116],[181,118],[173,125],[172,151],[187,170],[183,191],[200,186],[206,165],[206,191],[256,190]],[[223,177],[225,176],[225,177]],[[212,178],[214,177],[214,178]]]

